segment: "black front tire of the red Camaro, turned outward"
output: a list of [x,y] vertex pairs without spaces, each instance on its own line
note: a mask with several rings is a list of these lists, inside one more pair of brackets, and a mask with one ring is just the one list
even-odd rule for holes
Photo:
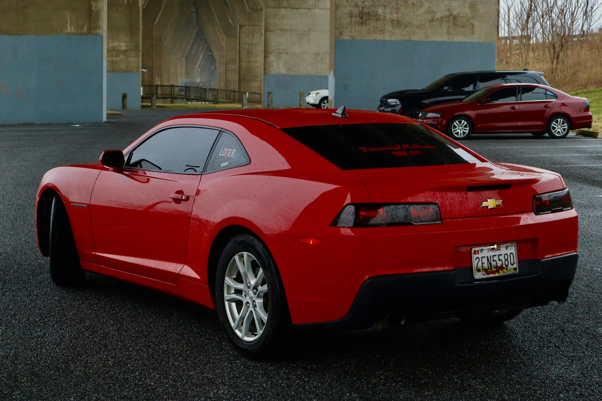
[[85,281],[79,263],[73,231],[63,201],[58,195],[52,200],[50,212],[50,277],[57,286],[76,286]]

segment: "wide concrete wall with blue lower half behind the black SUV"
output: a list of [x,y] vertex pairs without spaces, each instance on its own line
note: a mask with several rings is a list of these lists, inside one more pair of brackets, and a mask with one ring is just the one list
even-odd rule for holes
[[[495,69],[496,0],[336,0],[335,107]],[[331,90],[332,91],[332,90]]]

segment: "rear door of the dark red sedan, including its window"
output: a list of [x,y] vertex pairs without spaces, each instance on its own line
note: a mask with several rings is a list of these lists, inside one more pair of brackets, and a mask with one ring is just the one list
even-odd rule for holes
[[544,131],[548,115],[554,108],[556,95],[545,88],[524,86],[520,87],[520,102],[518,102],[518,123],[521,130]]

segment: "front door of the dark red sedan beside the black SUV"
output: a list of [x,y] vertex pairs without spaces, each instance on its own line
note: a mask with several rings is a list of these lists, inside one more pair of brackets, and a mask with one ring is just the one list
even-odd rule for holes
[[477,105],[476,132],[518,130],[517,87],[500,88],[487,95],[489,102]]

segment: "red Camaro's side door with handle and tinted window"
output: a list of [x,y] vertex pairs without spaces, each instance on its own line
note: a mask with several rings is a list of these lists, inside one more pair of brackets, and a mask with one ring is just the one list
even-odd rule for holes
[[90,199],[101,265],[177,283],[200,173],[219,134],[205,127],[160,130],[102,171]]

